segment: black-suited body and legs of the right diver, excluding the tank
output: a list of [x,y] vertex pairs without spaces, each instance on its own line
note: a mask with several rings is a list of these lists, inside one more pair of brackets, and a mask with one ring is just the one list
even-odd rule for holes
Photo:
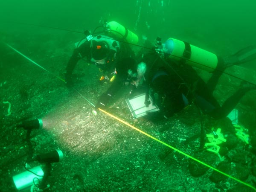
[[[157,45],[153,49],[158,50]],[[247,51],[255,52],[255,48],[250,47]],[[244,57],[244,55],[247,55],[247,57]],[[184,64],[183,60],[177,62],[171,60],[168,54],[150,51],[143,55],[143,61],[147,64],[148,68],[145,73],[145,79],[148,79],[148,87],[151,89],[153,103],[157,104],[160,108],[161,116],[168,118],[195,101],[203,113],[212,116],[214,119],[221,119],[226,117],[236,107],[247,91],[256,89],[256,85],[242,82],[239,90],[220,106],[212,94],[219,77],[232,64],[251,61],[255,57],[256,52],[254,55],[248,55],[245,49],[242,49],[230,58],[223,59],[218,57],[217,67],[209,81],[205,83],[191,66]],[[243,59],[239,61],[239,58]],[[148,88],[148,90],[150,89]],[[146,97],[145,105],[147,105],[147,102]]]

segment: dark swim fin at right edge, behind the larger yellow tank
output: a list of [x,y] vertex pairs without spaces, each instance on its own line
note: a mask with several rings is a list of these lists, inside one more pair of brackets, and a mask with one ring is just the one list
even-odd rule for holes
[[234,55],[223,58],[225,67],[230,67],[233,65],[239,65],[256,59],[256,47],[249,46],[240,51],[236,52]]

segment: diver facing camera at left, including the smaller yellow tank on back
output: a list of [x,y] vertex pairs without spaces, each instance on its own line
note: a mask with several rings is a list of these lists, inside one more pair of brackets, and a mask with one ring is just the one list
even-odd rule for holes
[[[105,23],[104,35],[86,33],[87,37],[76,43],[76,49],[71,56],[65,73],[67,86],[72,86],[72,72],[80,59],[96,65],[102,71],[101,81],[111,81],[106,93],[99,97],[96,108],[104,108],[111,97],[119,90],[125,81],[127,71],[136,67],[135,54],[129,44],[137,44],[138,37],[115,21]],[[120,41],[120,42],[119,42]]]

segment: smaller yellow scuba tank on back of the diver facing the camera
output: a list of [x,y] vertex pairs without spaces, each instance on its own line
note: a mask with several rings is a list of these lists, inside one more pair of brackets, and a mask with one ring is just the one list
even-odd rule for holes
[[138,43],[138,36],[116,21],[108,22],[108,27],[110,32],[113,33],[113,35],[115,35],[117,38],[123,38],[131,44]]

